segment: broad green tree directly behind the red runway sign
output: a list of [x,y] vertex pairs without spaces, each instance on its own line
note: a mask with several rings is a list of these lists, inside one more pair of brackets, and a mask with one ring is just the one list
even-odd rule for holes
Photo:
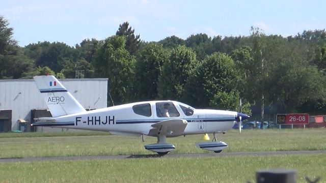
[[278,44],[266,79],[266,85],[273,86],[266,90],[267,99],[282,103],[288,113],[308,101],[322,99],[325,92],[323,74],[310,65],[307,50],[298,45],[293,41]]

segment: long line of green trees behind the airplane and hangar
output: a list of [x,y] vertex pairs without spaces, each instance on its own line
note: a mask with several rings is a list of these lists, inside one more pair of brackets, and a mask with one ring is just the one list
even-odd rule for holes
[[124,22],[116,35],[73,47],[47,41],[19,47],[13,31],[0,16],[1,79],[46,73],[75,78],[76,70],[84,70],[86,78],[108,78],[115,105],[168,99],[238,110],[241,97],[244,112],[260,111],[261,120],[266,107],[275,113],[326,111],[324,29],[282,37],[252,27],[249,36],[146,42]]

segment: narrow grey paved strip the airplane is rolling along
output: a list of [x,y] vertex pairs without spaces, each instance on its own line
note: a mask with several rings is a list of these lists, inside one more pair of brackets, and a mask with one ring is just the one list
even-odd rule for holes
[[0,158],[5,162],[33,162],[33,161],[74,161],[74,160],[116,160],[128,158],[203,158],[203,157],[234,157],[234,156],[277,156],[277,155],[315,155],[326,154],[326,150],[300,150],[300,151],[264,151],[239,153],[198,153],[198,154],[171,154],[159,155],[108,155],[108,156],[70,156],[70,157],[33,157],[33,158]]

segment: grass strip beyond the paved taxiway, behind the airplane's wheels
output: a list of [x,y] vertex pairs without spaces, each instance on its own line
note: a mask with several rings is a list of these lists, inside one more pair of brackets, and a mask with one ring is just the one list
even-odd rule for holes
[[[156,138],[106,135],[107,133],[87,132],[42,134],[7,134],[0,138],[0,158],[79,156],[79,155],[132,155],[154,154],[145,150],[144,145],[155,143]],[[17,137],[19,135],[19,137]],[[23,137],[25,135],[26,137]],[[210,135],[212,138],[212,135]],[[176,146],[170,153],[211,153],[198,149],[195,142],[201,135],[168,138]],[[224,152],[237,151],[281,151],[281,150],[326,150],[326,129],[274,129],[236,130],[218,135],[219,140],[229,146]]]

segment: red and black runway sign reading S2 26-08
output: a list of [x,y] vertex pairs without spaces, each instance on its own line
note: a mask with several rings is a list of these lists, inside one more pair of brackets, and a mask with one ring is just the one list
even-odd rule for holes
[[309,114],[277,114],[278,125],[309,124]]

